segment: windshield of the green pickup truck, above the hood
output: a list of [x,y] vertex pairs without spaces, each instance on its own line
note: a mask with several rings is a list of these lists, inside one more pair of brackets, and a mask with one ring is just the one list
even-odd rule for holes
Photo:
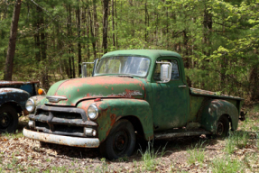
[[150,59],[142,57],[108,57],[100,59],[95,76],[105,74],[145,77]]

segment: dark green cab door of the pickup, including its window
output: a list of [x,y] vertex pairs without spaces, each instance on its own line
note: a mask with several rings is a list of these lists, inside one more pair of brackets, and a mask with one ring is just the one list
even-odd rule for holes
[[158,61],[171,62],[171,80],[158,83],[161,64],[156,64],[153,72],[153,123],[155,131],[182,127],[189,114],[189,87],[184,83],[184,72],[177,58],[160,58]]

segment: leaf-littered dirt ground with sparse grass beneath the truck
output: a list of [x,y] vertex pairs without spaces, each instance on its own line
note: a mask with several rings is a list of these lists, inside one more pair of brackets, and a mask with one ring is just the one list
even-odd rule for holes
[[[257,118],[252,118],[249,123],[251,122],[259,126]],[[134,155],[129,158],[106,160],[100,156],[98,149],[56,144],[40,147],[39,141],[23,137],[23,126],[26,123],[26,120],[22,120],[14,135],[0,135],[0,172],[217,172],[217,161],[227,157],[231,158],[231,164],[235,160],[239,166],[244,164],[237,172],[259,172],[259,152],[254,132],[249,133],[247,145],[236,149],[232,154],[226,152],[226,139],[197,136],[153,141],[152,149],[156,153],[154,159],[144,159],[141,151],[147,150],[136,147]],[[246,127],[244,123],[239,123],[238,130],[242,131],[243,127]],[[198,150],[196,146],[200,143],[202,146]],[[191,155],[204,158],[202,161],[191,161]],[[252,155],[253,159],[250,158]],[[219,172],[234,171],[222,169]]]

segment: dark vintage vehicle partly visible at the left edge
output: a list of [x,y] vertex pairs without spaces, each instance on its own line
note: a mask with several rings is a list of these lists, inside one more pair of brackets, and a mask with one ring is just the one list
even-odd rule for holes
[[38,81],[0,80],[0,133],[16,130],[19,116],[28,114],[25,109],[26,101],[37,95],[38,84]]

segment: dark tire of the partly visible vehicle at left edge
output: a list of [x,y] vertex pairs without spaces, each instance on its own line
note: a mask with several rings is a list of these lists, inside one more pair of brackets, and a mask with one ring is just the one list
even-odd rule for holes
[[0,107],[0,132],[15,132],[18,126],[18,114],[11,105]]

